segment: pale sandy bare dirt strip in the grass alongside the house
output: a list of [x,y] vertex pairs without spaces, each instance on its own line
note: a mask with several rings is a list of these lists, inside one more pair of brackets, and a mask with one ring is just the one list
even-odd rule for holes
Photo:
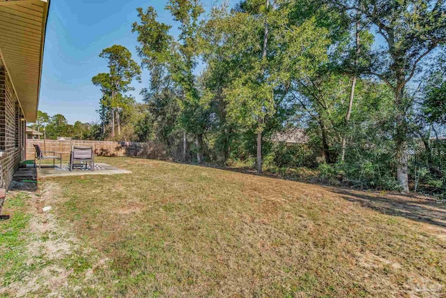
[[[19,192],[11,191],[9,195],[14,196]],[[79,253],[91,255],[91,251],[83,248],[70,227],[63,225],[53,213],[56,206],[63,204],[58,184],[45,182],[40,185],[39,191],[26,193],[29,195],[27,203],[31,218],[29,227],[24,231],[28,234],[27,258],[24,264],[29,271],[24,272],[22,278],[7,287],[0,288],[0,293],[13,297],[64,296],[64,293],[72,292],[70,277],[75,273],[75,269],[70,260],[76,260]],[[51,206],[52,209],[43,211],[43,207],[47,206]],[[105,265],[105,262],[101,261],[89,269],[93,270],[102,265]],[[89,279],[88,274],[85,279]]]

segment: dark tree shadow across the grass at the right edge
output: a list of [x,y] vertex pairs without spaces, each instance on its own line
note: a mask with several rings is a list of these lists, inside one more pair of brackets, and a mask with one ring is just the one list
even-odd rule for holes
[[341,195],[350,202],[391,216],[401,216],[413,221],[430,223],[446,228],[446,204],[435,200],[424,200],[410,195],[368,195],[359,191],[332,188],[330,191]]

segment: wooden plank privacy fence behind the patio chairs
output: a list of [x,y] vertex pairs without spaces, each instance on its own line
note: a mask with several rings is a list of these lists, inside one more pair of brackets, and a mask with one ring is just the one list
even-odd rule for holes
[[150,151],[154,147],[151,143],[138,142],[112,142],[112,141],[58,141],[58,140],[26,140],[26,159],[34,159],[38,144],[42,151],[56,151],[62,154],[63,159],[70,158],[73,145],[92,146],[96,156],[138,156],[143,151]]

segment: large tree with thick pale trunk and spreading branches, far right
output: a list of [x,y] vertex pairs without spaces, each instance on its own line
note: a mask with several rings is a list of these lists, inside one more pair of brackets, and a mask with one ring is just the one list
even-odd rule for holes
[[413,97],[407,84],[422,70],[421,62],[446,42],[446,13],[442,0],[334,1],[345,10],[355,10],[374,24],[386,47],[373,53],[367,73],[383,80],[394,93],[395,153],[397,179],[408,192],[408,111]]

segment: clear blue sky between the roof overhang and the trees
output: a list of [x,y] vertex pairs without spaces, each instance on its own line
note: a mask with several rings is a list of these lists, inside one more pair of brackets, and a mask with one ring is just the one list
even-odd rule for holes
[[[220,1],[203,0],[209,9]],[[231,3],[236,1],[232,0]],[[159,20],[178,27],[164,10],[167,1],[79,0],[52,1],[47,23],[39,110],[50,116],[63,114],[68,123],[98,120],[100,90],[91,84],[91,77],[107,71],[104,59],[98,57],[105,47],[124,45],[139,63],[135,47],[137,35],[132,33],[137,7],[153,6]],[[173,32],[174,33],[174,32]],[[132,94],[140,100],[139,91],[148,84],[143,72],[141,84],[135,82]]]

